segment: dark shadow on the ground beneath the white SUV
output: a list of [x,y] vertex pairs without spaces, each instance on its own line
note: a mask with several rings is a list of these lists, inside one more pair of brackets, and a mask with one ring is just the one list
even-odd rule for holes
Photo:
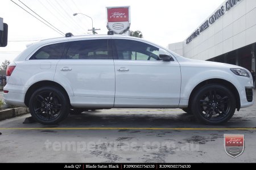
[[68,128],[243,128],[249,127],[248,120],[234,117],[222,125],[205,125],[188,113],[118,113],[104,111],[86,111],[71,115],[60,124],[44,127]]

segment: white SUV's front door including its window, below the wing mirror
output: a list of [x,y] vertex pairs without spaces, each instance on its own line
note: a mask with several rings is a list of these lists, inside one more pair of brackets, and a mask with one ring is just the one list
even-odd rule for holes
[[180,65],[160,61],[159,48],[146,42],[113,39],[114,107],[177,107]]

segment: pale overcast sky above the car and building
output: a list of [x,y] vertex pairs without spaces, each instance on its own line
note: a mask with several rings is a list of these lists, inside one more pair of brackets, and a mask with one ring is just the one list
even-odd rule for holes
[[[61,32],[73,35],[106,34],[106,7],[130,6],[131,31],[139,30],[143,39],[161,46],[184,41],[224,0],[12,0],[28,7]],[[26,6],[24,6],[23,2]],[[27,44],[62,35],[53,31],[10,0],[0,0],[0,18],[9,25],[8,45],[0,47],[0,65],[13,61]],[[31,11],[30,11],[31,12]],[[34,14],[33,12],[31,12]],[[35,14],[34,14],[35,15]],[[36,16],[36,15],[35,15]],[[38,17],[39,18],[39,17]],[[42,20],[42,19],[41,19]]]

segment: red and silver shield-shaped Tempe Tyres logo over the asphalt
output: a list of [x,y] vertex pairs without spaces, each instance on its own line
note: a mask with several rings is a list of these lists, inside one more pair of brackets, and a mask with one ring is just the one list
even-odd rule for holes
[[224,134],[224,146],[226,154],[236,158],[243,153],[245,136],[242,134]]

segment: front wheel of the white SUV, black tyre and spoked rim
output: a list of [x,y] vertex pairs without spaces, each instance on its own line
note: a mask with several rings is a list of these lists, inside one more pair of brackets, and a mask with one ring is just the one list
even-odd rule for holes
[[203,86],[191,100],[191,112],[197,120],[209,125],[228,121],[236,111],[235,96],[228,88],[219,84]]

